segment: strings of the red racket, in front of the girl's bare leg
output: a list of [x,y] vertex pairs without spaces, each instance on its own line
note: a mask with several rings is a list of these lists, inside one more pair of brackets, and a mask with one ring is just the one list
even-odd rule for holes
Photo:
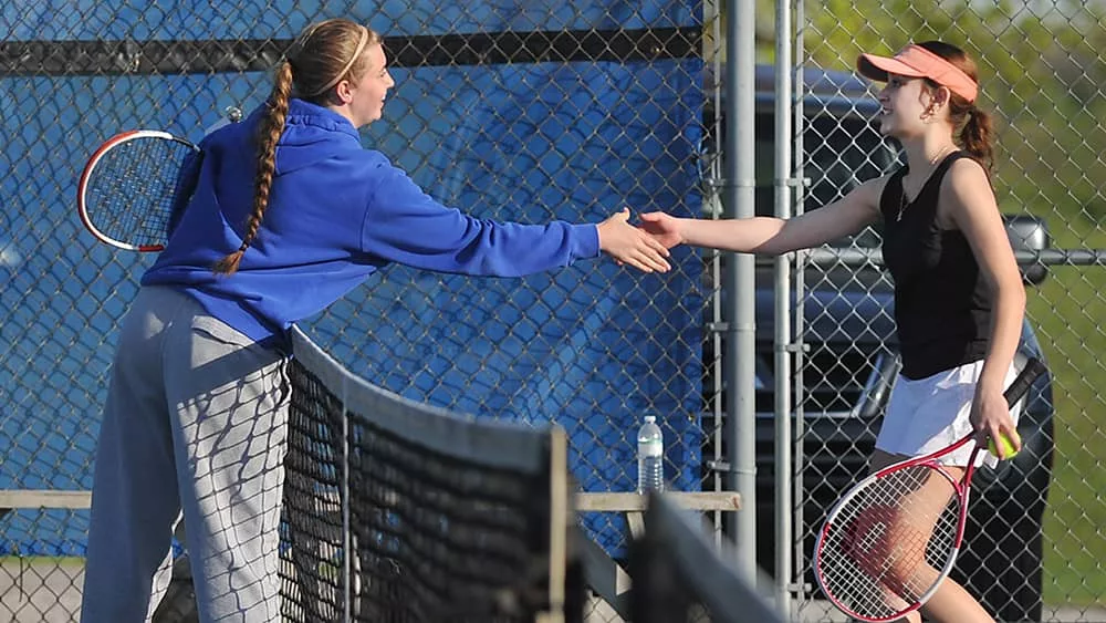
[[856,614],[894,617],[926,596],[952,555],[959,497],[936,469],[916,466],[859,490],[823,537],[822,581]]

